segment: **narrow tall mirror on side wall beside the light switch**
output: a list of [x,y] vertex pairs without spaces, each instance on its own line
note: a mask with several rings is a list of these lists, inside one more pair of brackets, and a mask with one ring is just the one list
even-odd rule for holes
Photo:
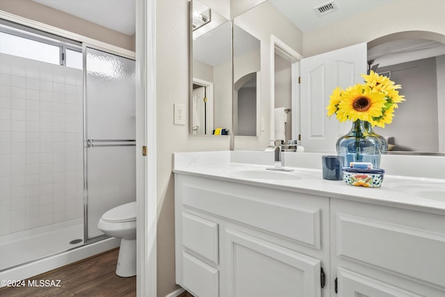
[[202,1],[191,1],[190,133],[232,129],[232,22]]

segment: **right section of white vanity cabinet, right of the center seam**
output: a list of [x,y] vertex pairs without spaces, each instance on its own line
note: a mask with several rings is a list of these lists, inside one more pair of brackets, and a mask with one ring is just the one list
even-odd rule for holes
[[445,216],[331,199],[330,218],[338,296],[445,296]]

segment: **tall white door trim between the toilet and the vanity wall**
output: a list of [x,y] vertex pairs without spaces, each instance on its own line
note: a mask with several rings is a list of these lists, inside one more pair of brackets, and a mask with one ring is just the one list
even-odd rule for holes
[[[156,1],[136,1],[136,294],[156,297]],[[142,146],[147,145],[147,156]]]

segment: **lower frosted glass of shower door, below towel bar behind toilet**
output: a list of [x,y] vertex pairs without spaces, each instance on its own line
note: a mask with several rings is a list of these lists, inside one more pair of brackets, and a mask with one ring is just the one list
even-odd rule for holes
[[88,148],[88,239],[102,235],[99,218],[109,209],[136,201],[135,147]]

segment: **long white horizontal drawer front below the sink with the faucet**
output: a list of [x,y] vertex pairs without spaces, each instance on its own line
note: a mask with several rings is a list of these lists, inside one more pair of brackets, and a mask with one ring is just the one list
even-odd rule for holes
[[181,186],[187,207],[321,249],[321,207],[317,204],[328,204],[325,198],[211,180]]

